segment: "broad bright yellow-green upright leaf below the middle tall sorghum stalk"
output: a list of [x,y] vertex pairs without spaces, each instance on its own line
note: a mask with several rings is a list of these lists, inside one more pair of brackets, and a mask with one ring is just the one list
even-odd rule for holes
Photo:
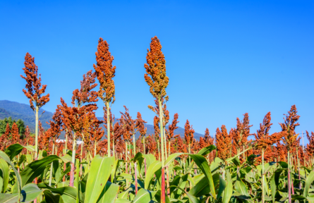
[[114,156],[102,157],[97,154],[94,159],[92,159],[86,183],[85,202],[97,202],[113,168]]

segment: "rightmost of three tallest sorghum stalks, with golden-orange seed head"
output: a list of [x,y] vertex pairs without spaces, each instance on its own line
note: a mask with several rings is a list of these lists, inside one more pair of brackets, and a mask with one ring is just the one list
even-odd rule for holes
[[152,38],[150,43],[150,50],[147,49],[146,56],[147,63],[144,67],[146,73],[144,75],[147,85],[150,86],[150,93],[159,104],[159,128],[161,137],[161,153],[162,153],[162,188],[161,188],[161,202],[166,201],[165,197],[165,184],[164,184],[164,126],[163,126],[163,109],[162,100],[168,100],[166,97],[166,87],[169,83],[169,78],[166,75],[166,61],[164,60],[164,54],[162,54],[162,45],[157,37]]

